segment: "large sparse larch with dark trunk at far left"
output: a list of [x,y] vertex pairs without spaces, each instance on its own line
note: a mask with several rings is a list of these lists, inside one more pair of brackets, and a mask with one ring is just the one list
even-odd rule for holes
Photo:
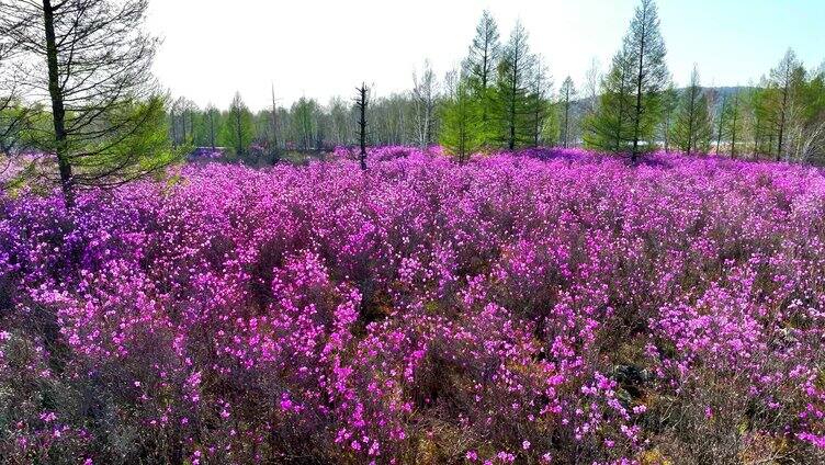
[[148,0],[0,0],[0,35],[21,52],[39,112],[33,145],[54,154],[66,205],[82,186],[113,186],[177,158],[151,78],[158,41]]

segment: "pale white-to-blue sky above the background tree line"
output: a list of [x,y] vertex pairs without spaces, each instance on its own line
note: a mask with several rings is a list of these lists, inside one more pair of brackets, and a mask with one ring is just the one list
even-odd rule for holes
[[[581,84],[592,58],[607,67],[637,0],[152,0],[149,27],[165,38],[155,70],[176,95],[225,106],[236,90],[253,109],[301,95],[326,103],[361,80],[378,94],[411,86],[429,58],[441,76],[466,54],[482,10],[502,39],[521,19],[560,83]],[[668,65],[678,84],[693,64],[705,84],[758,80],[793,47],[825,60],[825,0],[659,0]],[[358,22],[363,21],[364,26]],[[358,47],[362,44],[363,52]],[[557,87],[557,86],[556,86]]]

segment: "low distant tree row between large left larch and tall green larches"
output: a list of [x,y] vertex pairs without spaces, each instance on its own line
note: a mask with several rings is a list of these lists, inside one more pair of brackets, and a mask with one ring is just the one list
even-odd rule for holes
[[[373,146],[429,147],[438,143],[442,104],[439,82],[429,63],[414,73],[409,92],[375,98],[366,110],[366,139]],[[330,150],[359,141],[359,107],[353,99],[327,104],[302,97],[289,107],[273,104],[253,112],[236,93],[228,109],[199,107],[187,98],[170,99],[169,138],[174,147],[219,148],[247,161],[275,160],[287,150]]]

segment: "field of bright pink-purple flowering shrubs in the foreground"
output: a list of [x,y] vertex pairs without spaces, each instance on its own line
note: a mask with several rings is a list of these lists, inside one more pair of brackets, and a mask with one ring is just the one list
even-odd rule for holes
[[823,171],[339,155],[0,199],[0,462],[825,461]]

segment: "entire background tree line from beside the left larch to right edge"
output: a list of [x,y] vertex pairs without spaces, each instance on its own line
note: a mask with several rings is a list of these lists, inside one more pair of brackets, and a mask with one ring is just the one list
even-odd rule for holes
[[[757,82],[705,88],[696,68],[676,88],[653,0],[641,0],[618,52],[602,72],[594,60],[584,82],[557,89],[545,60],[531,52],[521,23],[502,41],[484,11],[466,57],[439,79],[428,61],[407,92],[374,97],[371,145],[440,144],[459,160],[476,151],[538,146],[628,154],[652,150],[811,161],[825,158],[825,66],[807,69],[789,49]],[[199,109],[184,98],[169,106],[176,146],[216,146],[247,159],[283,150],[358,144],[351,99],[327,104],[301,98],[251,112],[236,94],[229,109]]]

